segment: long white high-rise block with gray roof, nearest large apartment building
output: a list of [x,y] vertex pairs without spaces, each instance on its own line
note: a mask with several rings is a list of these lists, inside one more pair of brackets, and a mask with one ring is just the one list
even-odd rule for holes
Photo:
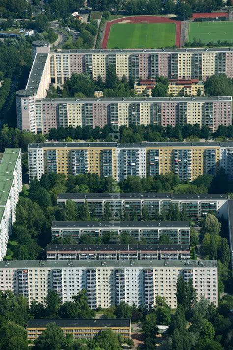
[[0,290],[44,303],[49,290],[56,290],[61,302],[72,300],[87,290],[92,309],[129,305],[155,305],[157,295],[164,296],[171,308],[177,307],[176,283],[179,276],[191,282],[197,297],[204,295],[218,304],[216,261],[2,261]]

